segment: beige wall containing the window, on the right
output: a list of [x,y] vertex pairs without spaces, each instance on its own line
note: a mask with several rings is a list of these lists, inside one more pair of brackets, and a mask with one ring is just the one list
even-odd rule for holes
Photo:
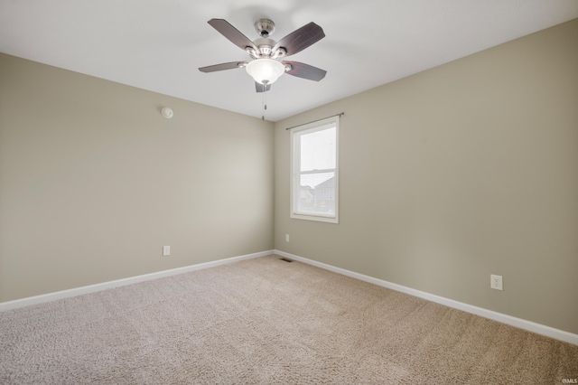
[[[573,20],[277,122],[275,249],[578,333],[576,42]],[[291,220],[285,127],[341,111],[340,223]]]

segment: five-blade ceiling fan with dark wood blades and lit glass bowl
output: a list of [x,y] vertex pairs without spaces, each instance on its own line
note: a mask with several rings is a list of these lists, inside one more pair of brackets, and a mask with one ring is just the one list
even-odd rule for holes
[[327,73],[326,70],[299,61],[279,61],[285,56],[303,51],[325,37],[322,27],[316,23],[303,25],[303,27],[293,33],[286,35],[279,42],[275,42],[269,37],[275,32],[275,23],[269,19],[259,19],[255,22],[256,32],[261,37],[252,42],[224,19],[210,19],[208,23],[229,41],[246,51],[253,60],[230,61],[201,67],[199,69],[201,72],[245,68],[247,73],[255,80],[257,92],[265,92],[271,89],[271,84],[285,72],[298,78],[315,81],[322,80]]

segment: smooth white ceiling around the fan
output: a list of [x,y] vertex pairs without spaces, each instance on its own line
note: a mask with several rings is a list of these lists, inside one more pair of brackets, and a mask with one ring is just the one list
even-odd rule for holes
[[277,80],[276,121],[577,17],[577,0],[0,0],[0,52],[261,117],[245,70],[197,70],[249,59],[207,21],[254,40],[270,18],[277,41],[317,23],[326,37],[287,60],[327,76]]

